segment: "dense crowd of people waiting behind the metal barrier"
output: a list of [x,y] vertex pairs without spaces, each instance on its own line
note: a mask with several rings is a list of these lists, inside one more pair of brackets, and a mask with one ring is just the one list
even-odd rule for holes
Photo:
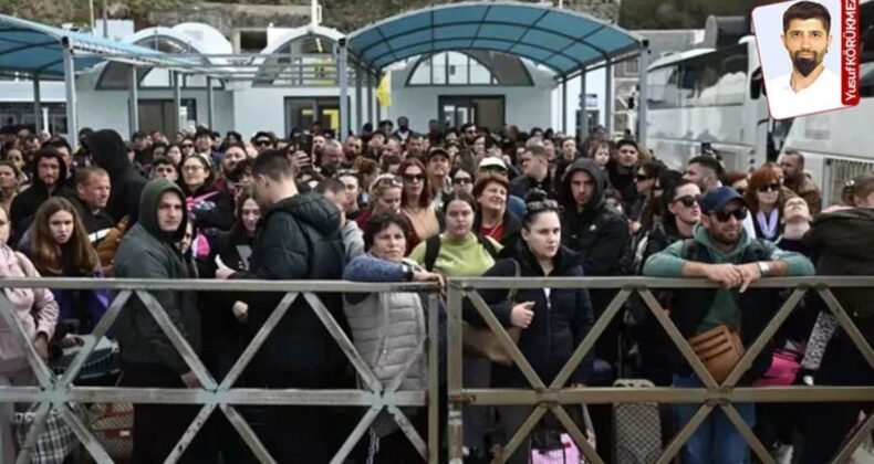
[[[444,128],[436,120],[417,133],[405,117],[396,129],[385,120],[345,138],[318,123],[288,138],[259,131],[248,140],[205,127],[176,134],[174,140],[160,131],[136,133],[129,141],[114,130],[83,129],[77,147],[74,151],[61,137],[27,131],[3,143],[3,277],[438,284],[468,276],[706,278],[720,287],[656,289],[655,296],[710,375],[722,381],[738,351],[750,347],[788,297],[785,291],[750,284],[770,276],[874,275],[874,173],[846,179],[840,204],[824,205],[805,175],[803,154],[792,150],[751,172],[726,172],[715,152],[673,169],[630,135],[613,140],[603,127],[582,140],[552,129]],[[46,360],[89,334],[111,297],[103,291],[4,292]],[[517,333],[521,352],[550,383],[616,293],[547,287],[482,291],[481,296],[500,324]],[[150,294],[218,379],[283,298],[275,293]],[[874,292],[835,294],[871,342]],[[408,372],[400,390],[427,388],[425,358],[408,365],[427,334],[424,297],[415,292],[320,295],[377,381],[387,386]],[[469,303],[465,321],[486,327]],[[362,381],[308,299],[296,298],[274,323],[237,387],[343,389]],[[111,336],[121,349],[123,386],[200,386],[141,299],[126,303]],[[720,352],[721,363],[696,348],[714,342],[730,346],[726,357]],[[777,356],[791,358],[798,371],[788,377],[779,371],[783,363],[772,362]],[[445,363],[445,355],[440,360]],[[657,318],[635,298],[566,386],[611,386],[620,378],[703,386]],[[474,350],[466,354],[464,382],[469,388],[530,387],[517,367]],[[10,329],[0,328],[0,384],[33,383],[23,351]],[[740,380],[746,386],[793,383],[874,383],[874,370],[814,295]],[[444,387],[429,392],[441,394],[441,414]],[[867,407],[733,404],[780,462],[805,464],[826,462]],[[2,461],[11,462],[13,404],[0,407]],[[197,411],[135,404],[133,462],[162,462]],[[361,416],[343,408],[296,405],[240,411],[283,463],[329,462]],[[687,404],[662,408],[659,440],[667,443],[696,411]],[[530,407],[465,408],[466,462],[489,462],[530,412]],[[611,462],[621,440],[613,433],[616,418],[610,405],[591,407],[591,412],[600,454]],[[425,436],[427,415],[413,409],[405,413]],[[545,421],[538,431],[554,422]],[[527,439],[510,462],[527,463],[539,442]],[[383,412],[352,458],[407,463],[417,460],[417,452]],[[219,460],[254,457],[217,413],[184,461]],[[750,462],[750,451],[717,408],[684,446],[681,462],[743,463]]]

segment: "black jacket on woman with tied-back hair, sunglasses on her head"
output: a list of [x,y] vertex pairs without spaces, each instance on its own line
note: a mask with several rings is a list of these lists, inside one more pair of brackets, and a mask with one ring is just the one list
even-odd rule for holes
[[[519,263],[520,277],[544,277],[543,270],[523,242],[517,242],[514,246],[504,249],[501,256],[483,277],[512,277],[516,273],[513,260]],[[549,277],[583,275],[580,255],[565,246],[562,246],[555,255],[554,265]],[[506,289],[479,292],[498,320],[504,327],[510,327],[512,308],[507,303],[509,292]],[[522,330],[519,349],[541,380],[549,384],[592,328],[593,316],[589,292],[584,288],[552,288],[548,298],[542,288],[520,289],[516,295],[516,302],[534,302],[534,318],[531,319],[531,325]],[[469,304],[465,306],[464,318],[470,324],[485,326],[482,318]],[[571,376],[571,382],[586,383],[591,372],[591,358],[589,356],[578,367]],[[518,368],[497,365],[492,368],[492,384],[530,387]]]

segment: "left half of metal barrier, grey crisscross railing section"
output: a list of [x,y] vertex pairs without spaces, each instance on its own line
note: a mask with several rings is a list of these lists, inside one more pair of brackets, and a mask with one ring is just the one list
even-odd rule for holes
[[[60,378],[52,373],[45,362],[40,358],[32,342],[27,338],[18,317],[12,312],[11,304],[3,292],[0,292],[0,317],[11,328],[11,333],[19,346],[23,347],[28,362],[33,369],[37,387],[0,387],[0,403],[2,402],[35,402],[39,403],[33,425],[27,435],[17,463],[30,462],[30,454],[40,432],[44,429],[45,421],[51,410],[56,410],[63,421],[71,426],[84,447],[98,463],[112,462],[103,450],[101,443],[82,420],[73,412],[69,403],[165,403],[165,404],[200,404],[202,408],[188,426],[166,463],[179,460],[195,435],[218,408],[228,418],[230,423],[251,449],[252,453],[262,463],[273,463],[268,450],[263,446],[252,429],[242,419],[235,405],[357,405],[368,408],[350,436],[337,450],[332,463],[342,463],[352,452],[355,444],[367,432],[368,428],[383,410],[387,410],[394,418],[398,428],[409,439],[423,458],[430,463],[438,461],[438,303],[434,284],[374,284],[351,283],[344,281],[315,282],[263,282],[263,281],[159,281],[159,280],[82,280],[82,278],[22,278],[3,280],[3,286],[20,288],[64,288],[64,289],[112,289],[118,291],[108,310],[93,330],[87,344],[71,362],[67,370]],[[275,292],[283,293],[284,297],[272,310],[267,323],[256,334],[250,345],[242,352],[225,379],[217,381],[207,371],[195,350],[189,346],[179,330],[174,326],[166,312],[149,291],[198,291],[198,292]],[[428,336],[427,336],[427,391],[398,391],[400,381],[406,377],[413,362],[426,350],[426,344],[419,345],[404,369],[392,379],[388,384],[382,384],[355,350],[348,336],[341,329],[332,314],[315,296],[316,293],[387,293],[387,292],[431,292],[428,300]],[[199,389],[158,389],[158,388],[104,388],[104,387],[76,387],[73,380],[82,369],[89,355],[94,350],[96,341],[106,334],[125,303],[138,297],[153,315],[163,331],[167,335],[173,346],[185,359],[202,386]],[[277,323],[285,315],[292,303],[303,297],[313,308],[324,327],[337,342],[348,358],[350,363],[362,380],[363,390],[268,390],[232,388],[239,376],[243,372],[249,361],[252,360],[258,349],[267,340]],[[427,444],[409,422],[402,407],[427,407],[428,409],[428,437]]]

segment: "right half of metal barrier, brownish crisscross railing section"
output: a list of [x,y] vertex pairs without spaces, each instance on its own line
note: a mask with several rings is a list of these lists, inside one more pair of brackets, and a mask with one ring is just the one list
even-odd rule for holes
[[[651,288],[706,288],[716,287],[704,280],[688,278],[648,278],[648,277],[596,277],[596,278],[457,278],[448,284],[448,440],[449,462],[462,462],[462,420],[464,405],[531,405],[533,411],[522,422],[519,430],[503,447],[499,462],[506,462],[523,443],[547,411],[551,411],[573,437],[584,454],[587,463],[602,463],[595,450],[585,440],[583,433],[564,409],[566,404],[581,403],[699,403],[698,412],[677,433],[658,458],[658,464],[668,464],[680,447],[691,437],[716,405],[722,409],[735,424],[743,439],[758,455],[762,463],[773,464],[774,460],[761,444],[752,430],[743,422],[733,402],[840,402],[871,401],[874,399],[874,386],[868,387],[736,387],[741,376],[752,366],[753,359],[761,352],[768,340],[773,337],[783,321],[799,305],[803,296],[815,291],[836,317],[840,326],[861,350],[868,366],[874,369],[874,351],[865,337],[860,333],[846,312],[832,294],[830,287],[868,287],[874,288],[874,277],[794,277],[766,278],[753,284],[753,287],[794,288],[782,307],[766,326],[758,339],[747,347],[747,351],[738,366],[722,384],[718,384],[695,356],[691,347],[683,338],[679,330],[663,312]],[[531,365],[513,344],[507,330],[498,321],[489,306],[477,289],[489,288],[613,288],[618,293],[595,321],[591,331],[568,360],[556,378],[547,386],[534,372]],[[628,297],[637,293],[652,315],[665,329],[672,341],[679,349],[684,359],[704,382],[705,388],[563,388],[574,369],[582,362],[585,355],[594,347],[595,340],[603,334],[611,320],[620,313]],[[513,363],[531,383],[531,389],[467,389],[462,386],[462,340],[461,312],[464,298],[470,298],[479,315],[489,329],[497,335],[501,345],[511,354]],[[874,430],[874,414],[867,416],[857,428],[845,445],[834,456],[833,462],[849,461],[853,451],[863,439]]]

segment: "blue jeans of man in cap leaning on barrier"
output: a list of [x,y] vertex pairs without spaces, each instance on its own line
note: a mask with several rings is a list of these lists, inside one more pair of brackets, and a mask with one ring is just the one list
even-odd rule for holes
[[[694,373],[691,377],[674,376],[674,387],[701,388],[704,383]],[[733,403],[743,421],[752,428],[756,424],[756,410],[752,403]],[[674,405],[677,429],[685,426],[698,412],[699,404],[678,403]],[[748,464],[750,450],[747,441],[722,409],[716,407],[701,422],[680,452],[683,464]]]

